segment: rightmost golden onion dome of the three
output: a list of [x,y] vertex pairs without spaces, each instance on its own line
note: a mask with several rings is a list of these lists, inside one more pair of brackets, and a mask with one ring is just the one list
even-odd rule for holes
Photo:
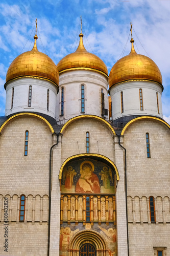
[[114,84],[128,80],[151,80],[162,85],[162,75],[155,62],[147,56],[137,54],[131,39],[132,49],[129,55],[119,59],[109,74],[109,88]]

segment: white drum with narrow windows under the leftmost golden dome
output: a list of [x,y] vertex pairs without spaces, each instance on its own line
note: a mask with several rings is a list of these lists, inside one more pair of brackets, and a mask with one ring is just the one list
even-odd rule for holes
[[[32,86],[31,106],[28,105],[30,86]],[[50,81],[38,78],[20,78],[10,81],[6,86],[5,115],[9,116],[17,112],[38,112],[55,118],[57,93],[57,87]]]

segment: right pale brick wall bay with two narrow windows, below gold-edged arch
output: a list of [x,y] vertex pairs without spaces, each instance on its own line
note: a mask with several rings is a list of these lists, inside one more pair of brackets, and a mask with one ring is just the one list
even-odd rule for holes
[[[147,157],[146,133],[151,158]],[[124,134],[127,150],[127,189],[130,255],[154,255],[154,247],[169,252],[169,129],[159,121],[138,120]],[[151,222],[149,197],[154,197]],[[136,245],[139,246],[136,246]]]

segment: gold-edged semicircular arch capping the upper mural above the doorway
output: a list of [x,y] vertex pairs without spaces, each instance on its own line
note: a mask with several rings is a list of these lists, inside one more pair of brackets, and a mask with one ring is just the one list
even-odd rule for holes
[[60,173],[59,173],[59,180],[62,179],[62,172],[63,172],[64,166],[67,163],[69,163],[71,160],[76,160],[76,159],[81,159],[81,158],[95,158],[95,159],[99,159],[99,160],[106,162],[108,165],[110,165],[110,167],[113,168],[113,170],[115,171],[116,180],[119,181],[119,174],[118,174],[117,167],[109,158],[107,158],[103,155],[100,155],[100,154],[90,154],[90,153],[78,154],[78,155],[68,157],[61,165]]

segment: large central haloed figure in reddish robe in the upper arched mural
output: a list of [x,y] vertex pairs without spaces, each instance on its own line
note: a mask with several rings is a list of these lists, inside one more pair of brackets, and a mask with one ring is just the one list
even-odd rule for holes
[[84,161],[80,166],[80,178],[76,184],[77,193],[100,193],[99,178],[94,172],[91,161]]

